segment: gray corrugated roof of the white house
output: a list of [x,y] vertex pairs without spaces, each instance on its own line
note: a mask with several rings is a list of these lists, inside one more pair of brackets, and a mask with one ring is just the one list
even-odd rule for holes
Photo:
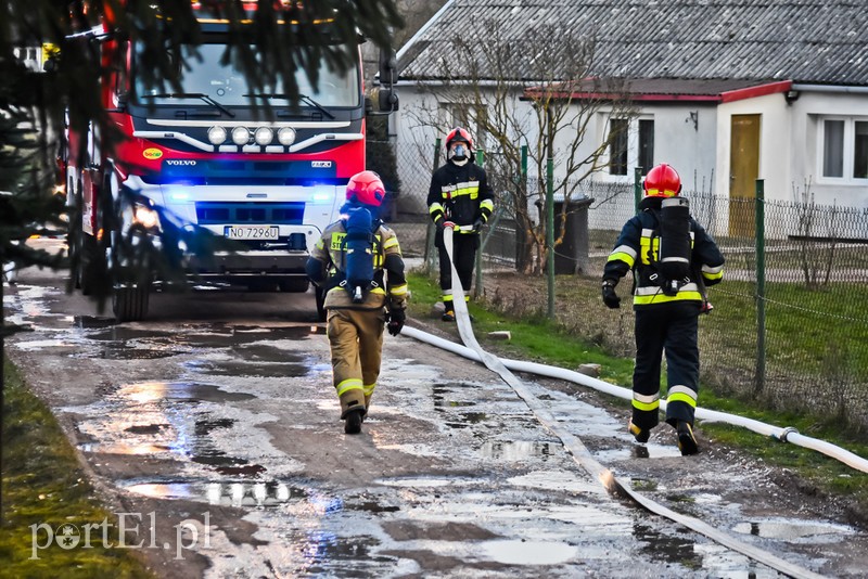
[[[558,27],[592,36],[600,77],[868,86],[868,0],[451,0],[399,52],[400,78],[441,78],[452,39],[488,22],[516,47]],[[516,57],[513,78],[533,66]]]

